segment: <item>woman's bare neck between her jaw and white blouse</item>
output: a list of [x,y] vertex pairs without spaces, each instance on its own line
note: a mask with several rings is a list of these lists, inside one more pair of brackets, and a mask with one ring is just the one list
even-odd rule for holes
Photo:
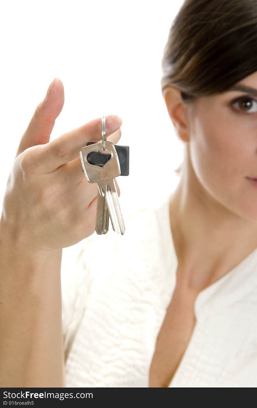
[[257,222],[231,213],[198,180],[182,175],[170,200],[177,282],[198,293],[257,248]]

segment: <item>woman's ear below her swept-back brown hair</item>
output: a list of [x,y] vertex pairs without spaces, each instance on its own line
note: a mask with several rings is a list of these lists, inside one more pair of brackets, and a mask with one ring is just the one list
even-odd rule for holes
[[181,97],[181,90],[174,86],[168,86],[163,90],[163,98],[165,100],[168,114],[173,123],[176,133],[179,138],[185,142],[189,142],[189,121],[187,120],[187,105]]

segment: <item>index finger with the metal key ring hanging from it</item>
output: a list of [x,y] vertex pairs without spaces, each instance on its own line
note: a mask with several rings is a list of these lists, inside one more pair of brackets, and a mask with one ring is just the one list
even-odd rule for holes
[[[119,116],[108,115],[105,118],[105,137],[111,135],[121,124],[122,119]],[[76,159],[88,142],[100,140],[102,140],[102,118],[97,118],[41,145],[41,149],[34,157],[37,168],[41,173],[50,173],[62,164]]]

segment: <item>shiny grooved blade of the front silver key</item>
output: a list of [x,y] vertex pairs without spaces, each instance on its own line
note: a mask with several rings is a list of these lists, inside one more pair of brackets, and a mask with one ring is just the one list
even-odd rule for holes
[[111,224],[113,231],[123,235],[125,232],[125,224],[120,209],[119,196],[116,189],[114,179],[107,181],[105,197],[107,201],[109,216],[111,218]]

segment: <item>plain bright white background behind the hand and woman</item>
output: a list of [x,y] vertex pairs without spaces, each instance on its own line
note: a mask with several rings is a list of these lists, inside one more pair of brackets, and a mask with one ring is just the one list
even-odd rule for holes
[[[55,77],[65,102],[50,140],[102,115],[123,119],[130,146],[122,212],[162,200],[183,160],[161,95],[161,58],[182,1],[9,1],[1,5],[0,209],[12,162]],[[81,146],[83,147],[83,146]]]

